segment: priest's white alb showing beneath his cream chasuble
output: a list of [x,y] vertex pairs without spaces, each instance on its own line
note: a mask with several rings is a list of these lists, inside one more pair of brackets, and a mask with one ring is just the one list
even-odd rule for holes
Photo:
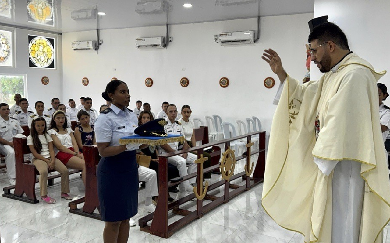
[[[336,72],[340,63],[332,68]],[[273,104],[277,105],[284,84],[277,91]],[[313,124],[314,126],[314,124]],[[313,157],[314,163],[324,175],[332,178],[332,242],[356,243],[359,241],[365,182],[360,177],[362,164],[357,161],[331,161]],[[340,162],[340,163],[339,163]]]

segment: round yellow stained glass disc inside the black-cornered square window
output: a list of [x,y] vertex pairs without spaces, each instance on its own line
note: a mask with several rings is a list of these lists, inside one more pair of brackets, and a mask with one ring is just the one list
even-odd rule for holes
[[35,37],[28,44],[28,56],[35,66],[46,68],[54,60],[53,45],[44,37]]

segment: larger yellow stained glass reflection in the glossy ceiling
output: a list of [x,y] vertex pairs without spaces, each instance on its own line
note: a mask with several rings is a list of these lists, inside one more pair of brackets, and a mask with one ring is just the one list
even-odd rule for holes
[[53,0],[27,0],[28,22],[54,26]]

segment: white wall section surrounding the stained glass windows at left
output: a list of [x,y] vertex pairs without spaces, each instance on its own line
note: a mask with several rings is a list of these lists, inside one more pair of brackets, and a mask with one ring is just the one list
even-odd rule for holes
[[[0,28],[2,28],[0,26]],[[10,28],[4,28],[9,30]],[[30,107],[34,109],[35,101],[41,100],[45,104],[45,108],[51,107],[51,98],[58,97],[62,101],[62,41],[61,35],[53,35],[49,33],[30,31],[25,29],[13,29],[14,35],[14,67],[2,67],[0,66],[0,73],[7,74],[25,74],[27,75],[27,97]],[[55,38],[55,47],[57,49],[57,63],[56,69],[46,68],[30,68],[28,67],[28,35],[41,35],[44,37]],[[15,48],[16,47],[16,48]],[[15,59],[16,58],[16,59]],[[43,85],[41,79],[43,76],[47,76],[50,79],[49,84]]]

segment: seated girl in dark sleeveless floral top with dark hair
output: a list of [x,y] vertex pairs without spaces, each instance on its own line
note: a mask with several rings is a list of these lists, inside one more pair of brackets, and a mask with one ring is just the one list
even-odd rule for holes
[[77,119],[80,122],[74,129],[79,152],[83,152],[83,145],[96,145],[94,125],[89,124],[89,114],[85,110],[77,112]]

